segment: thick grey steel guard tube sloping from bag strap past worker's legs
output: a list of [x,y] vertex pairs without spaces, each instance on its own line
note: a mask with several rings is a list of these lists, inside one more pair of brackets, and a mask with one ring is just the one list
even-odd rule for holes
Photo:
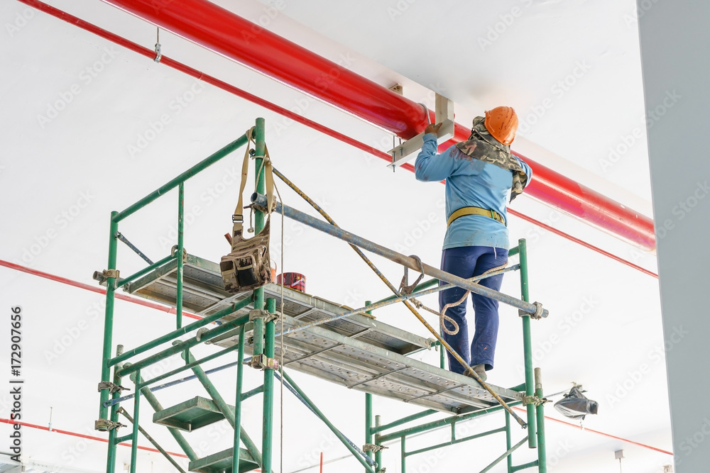
[[[256,204],[256,206],[266,208],[266,196],[263,196],[261,194],[252,194],[251,201]],[[307,213],[297,211],[295,208],[284,206],[280,204],[280,202],[276,204],[275,211],[277,213],[282,213],[288,218],[293,218],[293,220],[295,221],[299,221],[300,223],[304,223],[307,226],[315,228],[316,230],[320,230],[324,233],[328,233],[329,235],[340,238],[341,240],[344,240],[347,243],[351,243],[351,245],[355,245],[357,247],[362,248],[363,250],[373,252],[376,255],[380,255],[382,257],[387,258],[388,260],[408,267],[409,269],[413,269],[414,271],[420,271],[421,269],[424,269],[424,274],[427,274],[427,276],[430,277],[435,277],[440,281],[456,284],[457,286],[463,289],[469,290],[476,294],[480,294],[481,296],[486,296],[490,299],[495,299],[496,301],[503,302],[503,304],[508,304],[508,306],[519,308],[520,310],[525,311],[527,313],[532,314],[537,311],[537,306],[535,306],[534,304],[521,301],[520,299],[508,296],[508,294],[503,294],[502,292],[493,291],[493,289],[488,289],[486,286],[481,286],[480,284],[474,284],[472,282],[466,281],[466,279],[462,277],[454,276],[454,274],[442,271],[441,269],[435,268],[433,266],[422,264],[423,268],[420,268],[419,262],[413,257],[405,256],[402,253],[398,253],[396,251],[390,250],[387,247],[383,247],[382,245],[373,243],[370,240],[366,240],[365,238],[359,237],[358,235],[343,230],[342,228],[338,228],[324,221],[320,221],[317,218],[308,215]],[[547,317],[547,314],[547,309],[543,309],[542,316]]]

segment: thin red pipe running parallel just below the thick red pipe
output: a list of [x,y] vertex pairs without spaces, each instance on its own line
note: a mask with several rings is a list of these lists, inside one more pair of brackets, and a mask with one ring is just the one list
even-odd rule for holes
[[[127,40],[126,38],[122,38],[119,35],[111,33],[110,31],[104,30],[103,28],[99,28],[98,26],[96,26],[92,23],[89,23],[87,21],[84,21],[81,18],[77,18],[76,16],[72,16],[69,13],[66,13],[65,11],[62,11],[60,9],[55,9],[55,7],[45,4],[41,1],[38,1],[38,0],[18,0],[18,1],[20,1],[23,4],[27,4],[29,6],[32,6],[35,9],[38,9],[38,10],[43,11],[45,13],[48,13],[52,16],[55,16],[56,18],[60,18],[61,20],[66,21],[67,23],[71,23],[72,25],[78,26],[79,28],[82,28],[82,29],[87,30],[91,33],[94,33],[95,35],[98,35],[98,36],[105,38],[109,41],[112,41],[112,42],[116,43],[117,45],[123,46],[126,49],[129,49],[133,52],[137,52],[140,55],[143,55],[145,57],[149,57],[151,59],[153,59],[153,57],[155,57],[155,51],[153,51],[151,49],[148,49],[148,48],[145,48],[141,45],[133,43],[132,41]],[[268,110],[271,110],[271,111],[278,113],[282,116],[288,117],[293,121],[297,121],[298,123],[302,123],[303,125],[313,128],[314,130],[318,130],[321,133],[331,136],[332,138],[336,138],[337,140],[341,140],[343,143],[347,143],[349,145],[354,146],[355,148],[359,148],[360,150],[368,152],[373,156],[379,157],[379,158],[386,160],[388,162],[391,161],[391,156],[388,155],[386,152],[382,152],[380,150],[377,150],[376,148],[366,145],[365,143],[354,140],[353,138],[343,135],[342,133],[339,133],[336,130],[333,130],[332,128],[327,128],[327,126],[323,126],[320,123],[316,123],[315,121],[309,120],[308,118],[305,118],[303,116],[298,115],[297,113],[294,113],[293,111],[290,111],[290,110],[287,110],[286,108],[283,108],[281,106],[272,104],[271,102],[261,99],[260,97],[258,97],[256,95],[249,94],[249,92],[239,89],[238,87],[234,87],[231,84],[227,84],[226,82],[219,80],[216,77],[212,77],[209,74],[203,74],[202,72],[198,71],[197,69],[194,69],[188,65],[185,65],[182,62],[178,62],[176,60],[170,59],[170,57],[163,56],[162,59],[160,60],[160,64],[163,64],[168,67],[173,67],[173,69],[177,69],[178,71],[183,72],[183,73],[189,75],[190,77],[195,77],[195,79],[201,80],[203,82],[207,82],[207,84],[214,85],[214,87],[219,87],[220,89],[222,89],[224,91],[228,91],[229,93],[239,96],[242,99],[251,101],[254,104],[257,104],[259,106],[263,106],[264,108],[266,108]],[[525,159],[527,159],[527,158],[525,158]],[[538,165],[538,166],[540,166],[540,165]],[[402,168],[407,169],[410,172],[414,172],[414,167],[410,164],[405,164],[402,166]],[[545,168],[545,169],[547,169],[547,168]],[[536,176],[536,178],[537,178],[537,176]],[[628,260],[624,260],[623,258],[618,257],[616,255],[612,255],[609,252],[601,250],[601,248],[599,248],[599,247],[596,247],[594,245],[584,242],[583,240],[579,240],[579,238],[575,238],[572,235],[564,233],[562,230],[557,230],[557,228],[552,228],[551,226],[546,225],[545,223],[535,220],[535,218],[525,216],[525,215],[523,215],[523,213],[520,213],[518,211],[514,211],[512,208],[508,208],[508,212],[514,216],[518,216],[520,218],[523,218],[523,220],[525,220],[525,221],[531,222],[537,226],[540,226],[542,228],[550,230],[550,232],[560,235],[560,236],[562,236],[562,238],[567,238],[567,240],[573,241],[574,243],[579,243],[580,245],[583,245],[584,247],[587,247],[590,250],[596,251],[596,252],[600,253],[601,255],[611,257],[613,260],[621,262],[624,265],[627,265],[629,267],[633,267],[634,269],[638,269],[640,272],[644,272],[645,274],[649,274],[650,276],[653,276],[656,278],[658,277],[657,274],[655,274],[654,272],[648,271],[648,269],[645,269],[643,267],[635,265],[632,262],[630,262]],[[31,269],[28,269],[27,272],[31,272],[31,271],[32,271]],[[44,274],[46,274],[46,273],[44,273]],[[77,284],[80,284],[80,283],[77,283]],[[90,290],[99,291],[99,289],[94,288],[93,286],[89,286],[89,287],[91,288]],[[162,307],[160,307],[160,309],[163,310]],[[170,311],[173,311],[173,313],[174,313],[174,310],[175,309],[170,309]],[[190,315],[188,315],[188,316],[190,316]],[[197,316],[195,316],[195,317],[197,317]]]

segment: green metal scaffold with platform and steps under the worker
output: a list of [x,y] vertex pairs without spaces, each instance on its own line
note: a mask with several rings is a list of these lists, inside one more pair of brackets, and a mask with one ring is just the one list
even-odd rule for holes
[[[364,306],[351,309],[274,283],[266,284],[253,291],[232,294],[224,289],[222,274],[217,263],[191,255],[185,250],[185,182],[244,146],[251,151],[257,169],[256,191],[251,196],[253,226],[256,234],[264,228],[267,211],[270,209],[265,195],[265,173],[260,171],[264,165],[272,164],[266,152],[264,135],[263,118],[258,118],[256,126],[221,150],[182,172],[178,177],[124,211],[111,213],[107,269],[94,274],[94,278],[107,289],[102,372],[101,382],[99,382],[99,418],[94,425],[97,430],[109,433],[107,473],[113,473],[116,469],[117,445],[128,440],[131,441],[130,472],[138,471],[139,434],[144,435],[173,464],[173,467],[180,472],[185,472],[175,458],[165,452],[143,426],[139,425],[142,400],[147,401],[155,411],[153,422],[168,428],[170,435],[190,460],[187,468],[189,471],[217,473],[261,469],[262,472],[273,472],[275,382],[282,383],[285,389],[288,389],[320,418],[368,473],[384,472],[382,449],[385,443],[399,441],[400,472],[405,473],[408,457],[496,433],[506,433],[506,449],[481,472],[491,471],[493,467],[506,460],[505,471],[507,472],[537,468],[538,472],[545,473],[547,471],[544,424],[546,400],[542,391],[540,369],[532,367],[530,325],[531,319],[547,317],[547,310],[542,308],[542,304],[530,303],[525,240],[519,240],[518,245],[509,251],[511,257],[518,255],[518,264],[498,269],[495,273],[519,272],[521,297],[518,299],[477,284],[476,279],[483,277],[461,279],[425,264],[418,257],[401,255],[339,228],[332,218],[293,182],[290,182],[278,169],[273,169],[273,173],[313,206],[324,220],[285,206],[283,202],[277,202],[273,212],[280,214],[282,218],[295,219],[349,243],[391,289],[392,296],[374,303],[366,301]],[[249,150],[252,139],[254,148]],[[178,189],[177,242],[170,255],[157,262],[151,262],[129,242],[125,235],[119,232],[119,223],[175,188]],[[148,266],[128,277],[121,277],[117,263],[119,241],[126,243],[131,250],[141,255]],[[376,268],[364,251],[402,265],[405,274],[406,270],[410,269],[422,275],[426,274],[432,279],[415,287],[409,287],[405,291],[401,286],[398,289]],[[486,274],[485,277],[490,275]],[[525,379],[518,386],[504,388],[486,384],[444,341],[439,330],[432,327],[420,315],[417,309],[421,308],[422,304],[417,301],[418,297],[433,294],[453,285],[518,308],[523,323],[525,368]],[[112,355],[114,299],[117,289],[175,307],[175,330],[138,347],[124,349],[123,345],[117,345],[115,355]],[[278,307],[277,302],[279,302]],[[375,321],[372,312],[392,304],[405,305],[425,325],[432,337],[425,338],[393,325]],[[197,316],[198,320],[183,325],[182,318],[187,312]],[[189,335],[189,338],[181,340],[180,338],[185,335]],[[277,340],[280,340],[280,343],[277,343]],[[210,355],[196,359],[191,350],[198,345],[211,345],[214,350]],[[159,347],[162,348],[155,352]],[[411,356],[421,350],[439,350],[439,365],[430,365]],[[467,376],[445,369],[445,350],[451,352],[464,365]],[[146,352],[152,353],[139,356]],[[149,379],[143,377],[143,374],[148,372],[148,367],[174,355],[181,355],[185,365]],[[205,363],[225,356],[231,357],[226,364],[207,370],[202,368]],[[245,390],[244,370],[250,367],[263,371],[263,384]],[[219,394],[216,386],[209,379],[210,374],[227,369],[234,373],[236,386],[234,405],[229,404]],[[329,421],[305,391],[290,377],[291,369],[326,379],[347,389],[364,392],[366,425],[361,444],[347,438]],[[188,371],[192,374],[185,376],[185,372]],[[126,378],[133,382],[134,388],[133,394],[123,396],[126,388],[121,386],[121,383],[125,383]],[[197,379],[200,382],[207,391],[209,399],[195,396],[168,408],[160,404],[156,391],[190,379]],[[253,442],[242,425],[242,404],[246,399],[258,395],[263,397],[261,449]],[[373,396],[398,399],[407,404],[421,406],[425,410],[383,423],[381,416],[374,415]],[[126,405],[131,404],[133,411],[129,414]],[[513,406],[518,405],[525,407],[525,420],[513,409]],[[455,426],[458,423],[499,411],[505,416],[502,427],[457,438]],[[405,426],[436,413],[447,413],[449,416],[419,425]],[[119,422],[119,415],[131,424],[130,433],[119,435],[119,429],[125,427]],[[184,433],[223,420],[234,428],[232,446],[207,457],[198,457]],[[520,425],[524,435],[513,443],[515,432],[518,432],[513,428],[515,423]],[[443,427],[451,428],[449,441],[408,450],[408,438]],[[537,449],[537,459],[514,465],[513,452],[526,443],[529,448]],[[501,450],[503,450],[502,446]]]

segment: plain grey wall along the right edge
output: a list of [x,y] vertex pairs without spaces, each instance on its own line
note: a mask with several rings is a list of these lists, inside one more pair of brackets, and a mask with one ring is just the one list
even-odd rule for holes
[[[710,464],[710,2],[639,0],[676,472]],[[653,396],[653,393],[648,393]],[[652,416],[652,413],[648,413]]]

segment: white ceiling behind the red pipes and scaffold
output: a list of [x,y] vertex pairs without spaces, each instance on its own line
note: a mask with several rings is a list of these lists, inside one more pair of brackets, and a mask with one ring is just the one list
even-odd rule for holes
[[[99,1],[48,3],[146,47],[155,43],[153,26]],[[264,4],[253,0],[220,3],[252,21],[267,13]],[[440,88],[455,101],[463,123],[498,104],[512,105],[524,117],[535,107],[551,103],[514,148],[650,215],[638,33],[630,21],[633,1],[287,1],[285,6],[269,21],[273,32],[331,60],[347,57],[352,69],[385,86],[404,84],[405,95],[417,101],[430,101],[430,90]],[[393,11],[402,14],[392,17]],[[501,15],[505,19],[513,13],[514,21],[500,38],[481,48],[479,38],[485,37],[488,27],[495,28]],[[26,21],[18,19],[23,14],[29,17]],[[412,174],[401,170],[393,174],[381,160],[298,124],[277,133],[274,123],[284,123],[282,117],[214,87],[203,88],[173,69],[57,18],[32,13],[16,1],[1,4],[0,23],[6,30],[0,33],[6,34],[0,42],[6,63],[0,78],[0,107],[5,111],[0,155],[0,199],[5,203],[0,219],[1,260],[93,284],[92,272],[106,265],[109,212],[126,208],[229,143],[257,116],[266,118],[275,166],[320,201],[340,226],[407,254],[416,253],[432,265],[439,260],[444,233],[442,209],[437,205],[443,198],[441,185],[415,182]],[[391,143],[382,130],[197,45],[165,32],[160,42],[163,54],[236,87],[286,108],[300,108],[299,113],[308,118],[366,143],[378,143],[380,149],[387,150]],[[102,71],[97,72],[102,57]],[[580,73],[577,83],[560,94],[555,84],[579,63],[588,65],[589,71]],[[96,77],[89,80],[87,67]],[[80,92],[71,94],[71,101],[55,118],[40,118],[72,87]],[[177,106],[176,97],[187,91],[199,93],[187,106]],[[548,98],[550,102],[545,101]],[[131,148],[141,145],[139,136],[152,137],[151,126],[155,128],[164,115],[168,120],[155,138],[139,152]],[[608,158],[609,148],[616,148],[637,128],[640,138],[603,170],[600,160]],[[231,185],[230,176],[238,160],[238,156],[224,160],[186,186],[187,206],[193,211],[186,246],[192,254],[217,260],[227,251],[222,235],[228,231],[236,201],[238,189]],[[283,187],[285,204],[307,210]],[[177,195],[173,191],[162,200],[121,228],[153,259],[173,245],[170,233]],[[520,198],[513,207],[655,270],[655,256],[532,199]],[[432,229],[411,238],[432,212],[437,216],[429,222]],[[278,242],[276,227],[274,241]],[[671,462],[670,455],[592,431],[671,449],[657,280],[518,219],[511,220],[510,232],[513,241],[528,238],[531,295],[550,309],[550,318],[533,327],[535,365],[543,369],[546,391],[562,391],[577,382],[600,404],[599,416],[587,418],[587,430],[547,423],[548,455],[555,464],[551,471],[614,472],[618,462],[613,452],[623,449],[624,472],[662,472],[662,465]],[[284,267],[305,273],[310,293],[350,306],[387,295],[346,245],[289,221],[284,233]],[[388,277],[398,280],[399,268],[376,262]],[[138,257],[121,247],[121,271],[130,273],[140,264]],[[0,267],[0,287],[2,306],[21,304],[27,314],[23,420],[47,425],[52,406],[55,428],[102,436],[91,428],[97,417],[102,298],[6,267]],[[507,277],[503,291],[518,294],[514,276]],[[586,311],[589,304],[593,308]],[[124,302],[117,306],[114,343],[138,345],[173,325],[165,313]],[[376,316],[425,334],[399,308]],[[72,338],[79,327],[79,335]],[[503,309],[497,365],[490,376],[493,384],[520,382],[520,341],[517,313]],[[433,353],[425,356],[432,362],[437,359]],[[172,360],[170,366],[179,362]],[[361,443],[361,394],[342,392],[305,375],[296,379],[336,425]],[[247,382],[256,386],[257,374],[250,373]],[[227,376],[218,377],[218,383],[227,392],[233,389]],[[182,386],[160,392],[165,406],[195,395],[192,389],[197,386]],[[0,396],[0,401],[0,417],[7,418],[7,396]],[[247,425],[252,425],[258,438],[261,423],[253,406],[246,414],[251,421]],[[326,460],[344,452],[296,401],[287,397],[285,408],[284,472],[315,462],[312,452],[323,450]],[[173,440],[150,425],[148,411],[146,406],[141,422],[168,450],[176,451]],[[375,411],[383,421],[412,412],[384,399],[376,400]],[[547,413],[561,418],[552,408]],[[487,422],[469,429],[485,430]],[[302,435],[304,425],[310,435]],[[225,444],[229,436],[215,430],[195,435],[215,447]],[[438,442],[443,435],[432,434],[426,441]],[[485,452],[496,452],[495,457],[498,450],[503,452],[502,445],[498,439],[493,444],[452,447],[437,457],[437,469],[486,464],[491,459]],[[25,449],[31,460],[41,464],[98,472],[105,462],[105,444],[59,433],[26,429]],[[386,452],[390,471],[398,471],[397,451],[398,445],[393,445]],[[481,453],[474,459],[461,455],[470,451]],[[121,462],[128,462],[127,452],[125,447],[119,449]],[[521,461],[523,455],[518,457]],[[170,471],[158,454],[141,454],[141,462],[141,471],[148,471],[151,462],[153,472]],[[411,457],[408,464],[410,471],[423,472],[427,456]],[[343,460],[324,471],[359,469],[354,460]]]

